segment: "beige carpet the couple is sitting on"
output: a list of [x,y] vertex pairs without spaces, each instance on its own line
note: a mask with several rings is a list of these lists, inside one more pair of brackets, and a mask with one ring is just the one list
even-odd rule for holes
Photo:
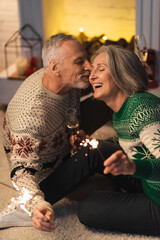
[[[7,206],[10,198],[15,194],[9,180],[9,169],[2,148],[2,120],[3,112],[0,111],[0,210]],[[88,188],[100,184],[100,178],[90,179],[84,186],[72,194],[78,198],[78,194],[86,194]],[[102,183],[102,182],[101,182]],[[101,186],[102,187],[102,186]],[[56,214],[56,229],[53,233],[38,231],[33,227],[13,227],[0,230],[0,240],[157,240],[157,237],[146,237],[121,233],[110,233],[89,229],[83,226],[76,215],[77,202],[64,198],[54,205]]]

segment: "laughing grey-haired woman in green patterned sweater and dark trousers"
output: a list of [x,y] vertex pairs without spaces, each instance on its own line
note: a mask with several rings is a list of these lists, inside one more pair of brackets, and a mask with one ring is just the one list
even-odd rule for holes
[[117,192],[96,192],[79,203],[80,221],[94,228],[160,235],[160,99],[147,92],[138,57],[118,46],[103,46],[92,58],[94,97],[113,110],[122,150],[104,161]]

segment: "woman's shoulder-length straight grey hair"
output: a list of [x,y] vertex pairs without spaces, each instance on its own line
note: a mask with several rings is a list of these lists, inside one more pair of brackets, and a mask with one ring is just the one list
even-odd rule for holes
[[146,70],[134,52],[117,45],[102,46],[93,54],[91,61],[101,53],[106,53],[110,73],[127,97],[148,90]]

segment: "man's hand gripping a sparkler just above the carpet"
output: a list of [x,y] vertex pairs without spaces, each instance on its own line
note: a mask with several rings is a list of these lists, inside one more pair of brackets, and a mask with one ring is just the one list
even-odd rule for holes
[[42,231],[53,232],[55,226],[53,224],[54,212],[46,207],[39,207],[35,210],[32,217],[32,225]]

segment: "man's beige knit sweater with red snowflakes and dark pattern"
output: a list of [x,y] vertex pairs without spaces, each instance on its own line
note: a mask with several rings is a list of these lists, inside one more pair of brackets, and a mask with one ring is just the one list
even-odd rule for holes
[[42,85],[44,70],[28,77],[11,100],[4,119],[4,148],[11,177],[19,191],[32,191],[26,203],[31,214],[44,200],[39,183],[69,154],[66,109],[79,107],[79,90],[57,95]]

